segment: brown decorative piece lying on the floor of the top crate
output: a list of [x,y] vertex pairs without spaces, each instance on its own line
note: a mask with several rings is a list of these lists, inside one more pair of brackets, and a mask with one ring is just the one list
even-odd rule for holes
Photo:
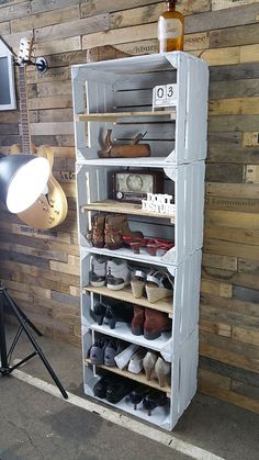
[[104,141],[104,148],[98,152],[100,158],[135,158],[149,157],[150,147],[148,144],[138,144],[146,135],[138,133],[132,144],[113,144],[111,139],[112,130],[108,130]]

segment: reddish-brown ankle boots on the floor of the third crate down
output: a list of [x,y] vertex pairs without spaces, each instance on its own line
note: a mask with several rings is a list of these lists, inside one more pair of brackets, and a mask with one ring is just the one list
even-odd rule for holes
[[153,308],[145,308],[144,337],[154,340],[161,333],[171,330],[171,319],[166,313]]

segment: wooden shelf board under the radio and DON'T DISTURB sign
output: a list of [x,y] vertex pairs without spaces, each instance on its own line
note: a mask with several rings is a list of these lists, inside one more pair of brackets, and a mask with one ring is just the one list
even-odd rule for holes
[[142,210],[140,204],[135,203],[122,203],[115,200],[103,200],[81,206],[82,211],[104,211],[114,212],[121,214],[133,214],[133,215],[146,215],[148,217],[160,217],[168,218],[171,223],[174,223],[174,215],[172,214],[160,214],[155,212],[147,212]]

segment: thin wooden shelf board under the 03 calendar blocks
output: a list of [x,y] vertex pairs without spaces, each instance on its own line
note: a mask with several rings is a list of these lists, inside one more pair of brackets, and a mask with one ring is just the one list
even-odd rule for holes
[[113,113],[80,113],[77,115],[79,122],[99,122],[99,121],[115,121],[119,119],[130,119],[137,116],[170,116],[171,120],[176,119],[176,110],[157,110],[145,112],[113,112]]

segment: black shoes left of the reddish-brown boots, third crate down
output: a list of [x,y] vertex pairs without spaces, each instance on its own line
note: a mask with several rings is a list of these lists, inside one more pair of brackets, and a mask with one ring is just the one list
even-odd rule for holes
[[115,328],[116,322],[131,323],[133,318],[133,307],[126,305],[105,305],[95,303],[91,310],[94,321],[99,326],[109,324],[111,329]]

